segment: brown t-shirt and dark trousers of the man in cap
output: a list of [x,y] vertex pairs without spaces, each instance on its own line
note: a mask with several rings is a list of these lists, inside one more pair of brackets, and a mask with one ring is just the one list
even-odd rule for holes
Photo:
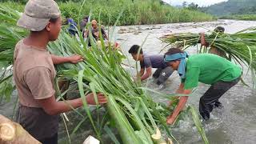
[[54,64],[47,50],[26,46],[23,39],[17,43],[14,51],[14,82],[20,105],[17,120],[38,140],[58,134],[58,115],[46,114],[37,102],[55,94],[54,77]]

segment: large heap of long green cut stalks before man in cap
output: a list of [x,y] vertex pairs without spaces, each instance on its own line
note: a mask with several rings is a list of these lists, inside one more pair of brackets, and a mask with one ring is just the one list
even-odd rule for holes
[[[11,80],[11,68],[7,69],[6,67],[12,66],[15,43],[19,39],[25,38],[28,33],[14,24],[19,18],[18,12],[0,6],[0,14],[10,19],[10,21],[3,21],[2,27],[0,27],[0,54],[10,50],[10,57],[0,60],[0,62],[7,62],[4,70],[10,70],[8,76],[4,75],[0,79],[1,85],[6,82],[6,77]],[[11,30],[11,34],[1,33],[6,30]],[[58,78],[62,78],[76,82],[80,96],[84,100],[82,110],[85,110],[85,113],[74,110],[81,116],[81,122],[75,127],[74,133],[81,123],[85,122],[86,118],[89,118],[96,137],[102,143],[104,143],[102,140],[102,134],[104,133],[108,134],[114,143],[119,143],[120,139],[125,144],[168,143],[171,142],[170,138],[175,140],[170,129],[166,126],[166,116],[170,113],[170,109],[154,102],[150,95],[145,93],[139,82],[133,82],[132,76],[122,68],[122,57],[118,55],[119,50],[114,49],[110,44],[106,45],[102,40],[102,34],[100,34],[101,42],[98,45],[94,42],[90,32],[92,45],[90,48],[83,41],[80,32],[78,32],[78,36],[79,40],[62,30],[58,40],[50,42],[48,45],[48,50],[51,54],[64,57],[80,54],[85,59],[75,65],[65,63],[58,65],[56,68],[58,75],[55,78],[55,89],[58,97],[62,98],[63,95],[59,93],[57,82]],[[1,45],[5,42],[9,44],[8,47]],[[98,92],[105,94],[108,98],[106,106],[97,105],[95,107],[96,114],[94,115],[91,114],[90,106],[85,101],[85,94],[89,92],[94,93],[96,102],[98,101],[96,97]],[[62,100],[65,101],[64,98]],[[100,114],[100,110],[106,112],[103,117]],[[194,112],[194,109],[190,110],[199,133],[202,135],[203,140],[208,143],[206,134],[200,125],[200,120],[196,117],[197,113]],[[120,138],[115,137],[115,130],[118,130]]]

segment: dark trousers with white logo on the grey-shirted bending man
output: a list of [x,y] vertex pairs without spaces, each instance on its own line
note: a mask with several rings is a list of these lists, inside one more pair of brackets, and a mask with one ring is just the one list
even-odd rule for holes
[[153,78],[156,78],[157,84],[160,85],[166,82],[173,72],[174,70],[170,66],[167,66],[166,68],[158,68],[158,70],[155,70]]

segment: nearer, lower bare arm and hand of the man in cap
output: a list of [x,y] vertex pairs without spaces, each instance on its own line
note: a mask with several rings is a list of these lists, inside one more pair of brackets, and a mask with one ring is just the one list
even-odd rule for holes
[[[38,99],[37,102],[40,106],[42,106],[42,109],[46,112],[46,114],[49,115],[61,114],[72,110],[72,107],[76,109],[82,106],[82,98],[66,101],[68,104],[66,104],[66,102],[56,102],[54,96],[45,99]],[[90,105],[95,105],[96,102],[94,102],[94,94],[87,94],[86,102]],[[98,103],[104,104],[106,102],[106,97],[103,94],[98,94]]]

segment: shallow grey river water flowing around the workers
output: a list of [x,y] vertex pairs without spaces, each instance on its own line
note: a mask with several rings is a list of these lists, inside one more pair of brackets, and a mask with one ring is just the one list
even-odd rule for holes
[[[145,41],[142,47],[143,51],[148,54],[158,54],[159,51],[166,46],[165,43],[162,43],[158,39],[164,34],[181,32],[200,33],[206,32],[207,30],[214,30],[216,26],[223,26],[226,29],[226,33],[232,34],[250,26],[256,26],[256,22],[222,20],[218,22],[190,22],[154,26],[119,26],[114,32],[114,39],[122,45],[122,50],[127,54],[130,64],[134,66],[134,60],[132,60],[127,53],[130,46],[134,44],[142,45]],[[134,30],[135,33],[138,33],[135,34]],[[189,54],[196,54],[197,48],[191,47],[187,52]],[[128,61],[125,61],[125,63],[128,63]],[[134,73],[135,71],[134,69],[126,69],[131,70],[131,73]],[[210,120],[202,123],[206,130],[206,136],[212,144],[256,143],[256,90],[251,88],[252,81],[250,74],[244,74],[243,78],[250,87],[246,87],[239,82],[220,98],[220,102],[222,102],[224,108],[214,109],[211,113]],[[166,88],[162,90],[162,93],[174,93],[178,88],[179,82],[180,79],[178,74],[172,74],[167,80]],[[149,84],[149,88],[153,89],[155,87],[151,79],[147,83]],[[208,88],[209,86],[200,83],[197,90],[194,91],[193,96],[189,98],[188,104],[195,106],[198,110],[199,98]],[[16,92],[14,92],[14,96],[17,97]],[[15,97],[13,97],[13,100]],[[166,103],[166,99],[158,97],[157,94],[153,94],[153,97],[158,102]],[[0,114],[10,117],[12,113],[13,103],[0,105]],[[74,126],[81,121],[81,118],[72,112],[67,113],[67,115],[68,118],[70,118],[70,122],[67,122],[67,126],[71,131],[74,129]],[[59,142],[68,143],[66,140],[65,126],[63,125],[62,120],[60,120],[60,122],[62,124],[60,125],[59,130]],[[82,143],[82,140],[92,133],[92,128],[84,122],[82,124],[82,130],[78,130],[78,134],[71,138],[71,143]],[[191,118],[185,119],[180,122],[178,126],[172,128],[172,133],[174,134],[174,137],[178,139],[178,142],[182,144],[203,143]],[[106,143],[111,143],[107,141],[108,138],[106,138]]]

